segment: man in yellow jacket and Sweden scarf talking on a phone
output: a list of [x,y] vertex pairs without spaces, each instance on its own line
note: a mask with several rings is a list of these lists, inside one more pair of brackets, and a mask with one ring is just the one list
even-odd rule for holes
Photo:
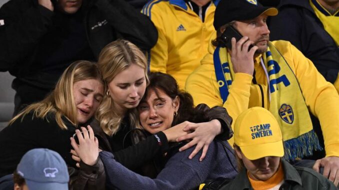
[[[269,41],[266,18],[276,14],[276,8],[264,7],[256,0],[221,0],[213,23],[217,37],[201,65],[187,78],[185,89],[194,104],[223,106],[233,120],[254,106],[269,110],[281,128],[287,160],[322,149],[310,111],[320,121],[326,152],[313,169],[323,167],[323,175],[337,185],[339,95],[297,48],[287,41]],[[224,47],[220,38],[229,25],[244,36],[238,41],[232,38],[231,49]],[[258,132],[260,127],[252,128],[255,138],[267,135]]]

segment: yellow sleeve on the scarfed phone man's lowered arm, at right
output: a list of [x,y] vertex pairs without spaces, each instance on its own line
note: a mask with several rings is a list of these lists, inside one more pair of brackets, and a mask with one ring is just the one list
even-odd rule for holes
[[283,56],[294,68],[308,109],[320,121],[326,157],[339,156],[339,95],[309,59],[290,43],[287,47],[290,56]]

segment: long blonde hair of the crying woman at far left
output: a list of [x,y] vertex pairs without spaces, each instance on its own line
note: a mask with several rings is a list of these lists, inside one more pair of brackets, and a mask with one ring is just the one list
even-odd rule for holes
[[86,79],[97,79],[105,86],[102,75],[95,63],[90,61],[76,61],[70,64],[56,83],[55,89],[42,101],[31,104],[22,110],[9,121],[9,125],[21,116],[22,122],[23,117],[33,111],[32,119],[33,117],[46,118],[48,113],[55,113],[56,123],[61,129],[67,129],[62,120],[62,116],[64,116],[71,124],[77,126],[78,122],[76,119],[73,84],[77,81]]

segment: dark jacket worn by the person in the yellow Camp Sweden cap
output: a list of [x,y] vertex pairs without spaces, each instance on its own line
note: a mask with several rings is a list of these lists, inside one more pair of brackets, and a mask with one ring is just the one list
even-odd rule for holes
[[[279,190],[336,190],[333,183],[312,169],[293,167],[286,161],[281,163],[284,183]],[[253,190],[247,177],[247,170],[243,169],[234,180],[220,190]]]

